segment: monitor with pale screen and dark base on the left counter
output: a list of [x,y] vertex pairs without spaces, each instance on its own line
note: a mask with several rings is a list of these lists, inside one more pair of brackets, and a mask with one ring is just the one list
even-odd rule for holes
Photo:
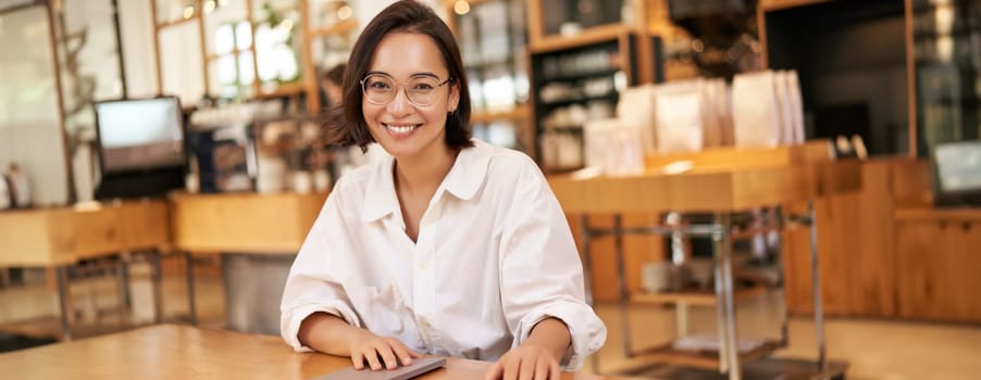
[[176,97],[94,104],[102,180],[96,198],[160,195],[184,187],[184,117]]

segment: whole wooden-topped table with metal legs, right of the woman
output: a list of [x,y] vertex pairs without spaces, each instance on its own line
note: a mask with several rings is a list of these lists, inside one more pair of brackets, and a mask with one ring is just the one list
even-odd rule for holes
[[[820,148],[820,147],[818,147]],[[805,147],[803,150],[812,150]],[[770,151],[777,152],[777,151]],[[827,149],[825,151],[827,152]],[[767,342],[759,350],[740,354],[736,350],[735,307],[737,291],[732,279],[732,220],[730,213],[743,212],[763,206],[775,206],[795,201],[808,201],[809,213],[803,218],[811,228],[811,261],[814,263],[815,281],[815,321],[818,330],[818,368],[824,370],[824,341],[822,315],[820,309],[820,291],[818,286],[817,263],[817,224],[812,201],[829,194],[856,191],[861,187],[860,162],[805,160],[807,154],[787,154],[791,150],[778,152],[786,157],[782,162],[770,159],[742,164],[728,164],[717,160],[711,164],[703,164],[680,174],[665,174],[648,170],[642,175],[621,177],[554,176],[549,186],[555,192],[567,214],[582,216],[580,246],[583,250],[583,264],[586,278],[589,275],[588,252],[591,236],[612,235],[617,261],[619,302],[624,329],[623,349],[628,356],[635,353],[630,337],[630,326],[625,316],[626,303],[632,299],[626,289],[623,261],[622,236],[624,233],[681,233],[712,238],[715,257],[715,294],[699,294],[694,297],[700,303],[715,304],[718,311],[718,358],[700,354],[678,352],[671,345],[645,350],[643,354],[654,360],[669,360],[682,365],[715,368],[728,372],[732,380],[741,379],[740,362],[760,356],[786,344],[784,335],[780,342]],[[743,152],[725,153],[727,157],[744,157]],[[769,153],[768,153],[769,154]],[[808,153],[809,154],[809,153]],[[825,153],[827,154],[827,153]],[[722,162],[720,162],[722,161]],[[715,219],[710,224],[690,226],[651,226],[649,228],[628,231],[621,226],[620,214],[623,213],[712,213]],[[613,214],[613,227],[609,230],[592,229],[589,214]],[[782,218],[781,218],[782,219]],[[782,221],[778,220],[777,225]],[[586,283],[587,290],[589,282]],[[707,297],[707,299],[706,299]],[[633,297],[637,300],[637,297]],[[676,293],[669,296],[642,297],[654,299],[655,303],[673,303],[678,305],[679,318],[686,318],[686,307],[693,299],[688,294]],[[707,301],[706,301],[707,300]],[[786,316],[782,318],[786,324]],[[679,322],[679,334],[687,334],[686,324]],[[786,331],[786,326],[782,331]],[[638,354],[639,355],[639,354]],[[596,363],[594,362],[594,366]]]

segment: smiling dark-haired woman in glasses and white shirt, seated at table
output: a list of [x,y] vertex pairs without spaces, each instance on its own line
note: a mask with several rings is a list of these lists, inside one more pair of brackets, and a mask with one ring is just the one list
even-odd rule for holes
[[606,340],[564,215],[526,155],[471,140],[459,48],[425,5],[383,10],[355,45],[335,141],[392,157],[340,178],[286,282],[283,338],[356,368],[420,353],[558,378]]

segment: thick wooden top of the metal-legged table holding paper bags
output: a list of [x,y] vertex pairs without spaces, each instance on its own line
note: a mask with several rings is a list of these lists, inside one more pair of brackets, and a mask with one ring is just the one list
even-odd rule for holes
[[682,174],[576,179],[548,182],[568,214],[731,212],[855,191],[860,163],[706,167]]

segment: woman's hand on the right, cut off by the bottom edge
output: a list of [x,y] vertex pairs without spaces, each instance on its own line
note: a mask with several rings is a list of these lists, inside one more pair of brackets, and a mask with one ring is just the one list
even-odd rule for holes
[[484,379],[558,380],[560,376],[559,360],[549,349],[533,342],[524,342],[501,356]]

